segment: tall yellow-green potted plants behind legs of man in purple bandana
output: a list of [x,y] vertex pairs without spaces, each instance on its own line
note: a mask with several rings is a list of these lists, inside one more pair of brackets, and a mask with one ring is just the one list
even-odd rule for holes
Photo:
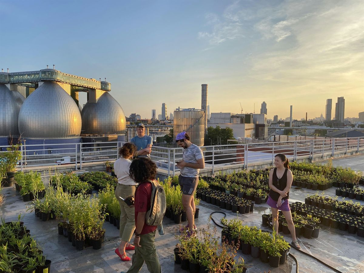
[[[187,221],[186,212],[182,205],[181,187],[178,185],[178,177],[169,177],[160,183],[163,186],[164,192],[166,194],[167,209],[165,216],[177,224]],[[206,182],[203,180],[199,181],[198,187],[205,187],[205,183]],[[194,201],[196,206],[194,218],[198,218],[199,208],[197,206],[200,203],[200,199],[197,198],[196,193],[194,195]]]

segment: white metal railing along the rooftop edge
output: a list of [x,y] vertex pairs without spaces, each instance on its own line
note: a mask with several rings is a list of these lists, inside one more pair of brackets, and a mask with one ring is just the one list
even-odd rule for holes
[[[20,146],[21,170],[30,166],[53,166],[72,164],[82,169],[88,162],[113,161],[118,158],[118,149],[124,142],[90,142],[37,144]],[[0,146],[0,153],[9,146]],[[259,142],[201,147],[205,166],[214,173],[215,166],[241,164],[248,166],[274,162],[274,155],[283,153],[292,161],[314,159],[325,156],[335,157],[364,150],[364,137],[360,138],[322,138],[296,141]],[[159,168],[174,175],[176,163],[181,160],[183,148],[153,146],[151,159]]]

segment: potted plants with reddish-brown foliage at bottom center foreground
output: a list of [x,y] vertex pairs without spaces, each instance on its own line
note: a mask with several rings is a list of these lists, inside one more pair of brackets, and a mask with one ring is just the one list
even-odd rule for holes
[[186,238],[185,234],[176,236],[179,244],[174,249],[174,262],[181,264],[183,270],[198,272],[245,273],[247,265],[242,257],[237,257],[237,248],[226,242],[219,244],[216,226],[200,230],[201,236]]

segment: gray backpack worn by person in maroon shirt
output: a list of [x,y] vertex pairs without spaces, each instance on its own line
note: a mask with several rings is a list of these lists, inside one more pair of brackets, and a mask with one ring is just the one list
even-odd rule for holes
[[163,186],[157,180],[148,180],[152,184],[152,194],[150,196],[150,210],[145,215],[145,224],[158,226],[162,223],[166,213],[166,194]]

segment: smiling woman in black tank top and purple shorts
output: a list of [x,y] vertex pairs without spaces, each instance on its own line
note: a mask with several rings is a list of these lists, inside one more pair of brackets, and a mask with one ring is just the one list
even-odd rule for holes
[[281,210],[288,224],[288,229],[292,236],[291,245],[300,249],[294,230],[292,214],[289,208],[289,190],[293,181],[292,171],[289,169],[289,161],[284,154],[277,154],[274,157],[274,169],[269,173],[269,197],[267,204],[272,209],[273,228],[278,234],[278,211]]

